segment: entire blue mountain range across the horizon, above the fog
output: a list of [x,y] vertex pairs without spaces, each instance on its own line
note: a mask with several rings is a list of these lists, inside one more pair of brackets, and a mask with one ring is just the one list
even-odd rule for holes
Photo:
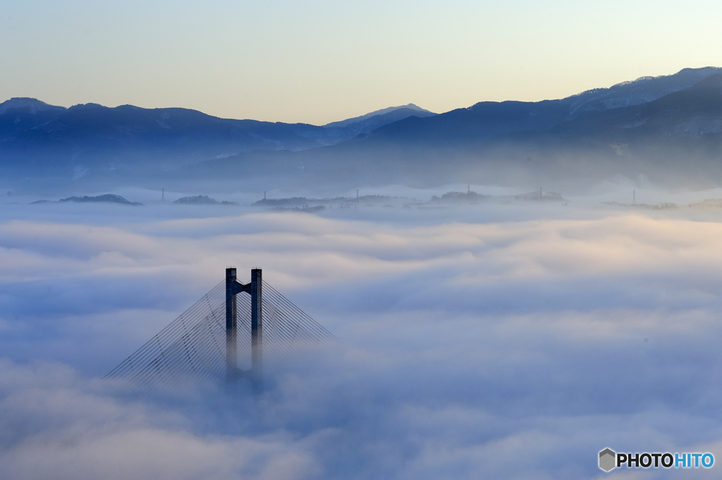
[[[182,108],[0,104],[0,174],[67,185],[207,181],[349,188],[722,181],[722,69],[683,69],[560,100],[416,105],[313,126]],[[12,183],[12,182],[10,182]],[[261,188],[264,190],[265,188]]]

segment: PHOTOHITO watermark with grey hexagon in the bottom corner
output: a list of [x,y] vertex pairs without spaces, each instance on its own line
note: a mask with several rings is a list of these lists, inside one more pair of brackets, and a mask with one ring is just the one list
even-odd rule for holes
[[616,453],[610,448],[599,452],[599,468],[710,468],[715,463],[711,453]]

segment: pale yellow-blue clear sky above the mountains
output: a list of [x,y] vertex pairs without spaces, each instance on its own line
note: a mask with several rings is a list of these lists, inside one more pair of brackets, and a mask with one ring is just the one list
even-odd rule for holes
[[16,1],[0,101],[327,123],[722,66],[715,1]]

